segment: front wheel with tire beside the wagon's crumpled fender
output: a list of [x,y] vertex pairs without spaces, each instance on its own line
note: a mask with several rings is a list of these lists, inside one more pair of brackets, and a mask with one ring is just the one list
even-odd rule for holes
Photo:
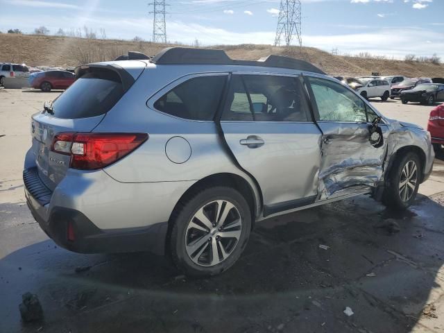
[[418,194],[421,163],[416,153],[396,157],[386,179],[382,202],[396,210],[407,209]]

